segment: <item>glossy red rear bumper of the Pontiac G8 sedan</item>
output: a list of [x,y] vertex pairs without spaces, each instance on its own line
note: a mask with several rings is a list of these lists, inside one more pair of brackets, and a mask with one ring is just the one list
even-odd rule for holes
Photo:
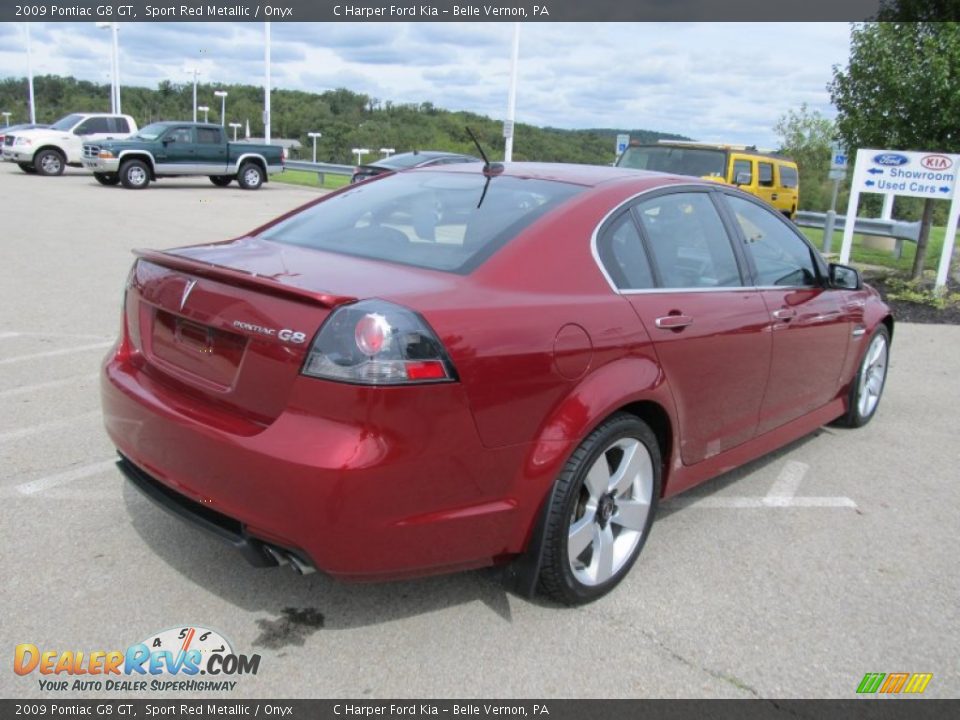
[[[325,385],[331,405],[337,393],[358,394],[302,381]],[[299,409],[250,434],[232,430],[229,416],[221,426],[215,409],[201,417],[182,393],[113,354],[101,378],[127,477],[255,563],[269,545],[343,579],[392,579],[522,552],[542,495],[521,482],[529,446],[483,448],[459,385],[417,388],[407,402],[392,393],[405,388],[386,389],[392,399],[382,390],[344,422],[305,413],[311,389],[295,387]]]

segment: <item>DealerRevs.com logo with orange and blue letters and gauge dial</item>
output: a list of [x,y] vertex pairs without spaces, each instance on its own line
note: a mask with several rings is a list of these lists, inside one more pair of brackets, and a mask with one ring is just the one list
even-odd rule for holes
[[233,690],[243,675],[256,675],[259,655],[240,655],[220,633],[197,626],[170,628],[126,650],[46,650],[17,645],[13,671],[36,673],[45,692]]

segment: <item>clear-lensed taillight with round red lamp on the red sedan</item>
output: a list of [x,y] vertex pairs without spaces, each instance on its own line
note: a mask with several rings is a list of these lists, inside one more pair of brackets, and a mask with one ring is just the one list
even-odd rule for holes
[[361,385],[456,380],[443,345],[426,321],[385,300],[334,310],[310,347],[303,374]]

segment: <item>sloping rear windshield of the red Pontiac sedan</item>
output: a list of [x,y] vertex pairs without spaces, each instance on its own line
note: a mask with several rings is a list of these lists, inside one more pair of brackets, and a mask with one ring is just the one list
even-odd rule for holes
[[267,240],[466,273],[578,185],[416,171],[360,183],[265,230]]

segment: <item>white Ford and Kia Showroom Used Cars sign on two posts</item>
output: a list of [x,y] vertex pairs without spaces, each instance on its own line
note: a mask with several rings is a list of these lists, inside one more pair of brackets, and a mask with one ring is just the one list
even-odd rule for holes
[[950,215],[947,220],[946,242],[943,244],[936,282],[937,288],[944,287],[947,282],[947,271],[950,268],[950,255],[953,251],[957,220],[960,217],[960,202],[957,197],[958,173],[960,173],[960,155],[906,150],[857,150],[840,262],[846,263],[850,260],[853,225],[857,217],[860,193],[949,200]]

